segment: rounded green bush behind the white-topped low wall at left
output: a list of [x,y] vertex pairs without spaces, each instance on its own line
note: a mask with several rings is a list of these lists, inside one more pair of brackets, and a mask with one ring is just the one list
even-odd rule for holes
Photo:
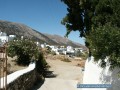
[[8,56],[17,56],[18,65],[29,65],[30,62],[37,60],[38,47],[30,40],[16,40],[8,43]]

